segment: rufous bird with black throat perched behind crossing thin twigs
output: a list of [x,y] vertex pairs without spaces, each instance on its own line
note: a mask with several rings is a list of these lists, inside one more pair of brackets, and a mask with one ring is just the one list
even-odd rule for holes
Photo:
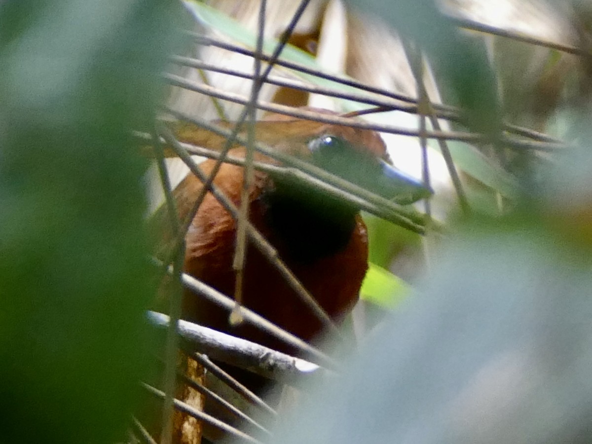
[[[194,130],[180,126],[176,135],[186,143],[199,144],[192,136]],[[421,182],[390,165],[384,141],[375,131],[273,114],[259,121],[256,134],[259,141],[279,152],[385,198],[412,202],[431,194]],[[242,146],[230,151],[236,157],[244,157],[244,153]],[[259,153],[255,160],[276,163]],[[205,160],[200,168],[209,175],[214,165],[215,160]],[[214,184],[239,206],[243,179],[242,166],[223,163]],[[201,188],[200,180],[189,173],[175,189],[181,220]],[[257,171],[249,190],[249,220],[326,313],[336,321],[342,319],[358,301],[368,269],[368,235],[359,208],[310,186],[286,184]],[[208,192],[186,233],[185,272],[233,295],[236,230],[236,221]],[[242,294],[245,307],[301,339],[310,341],[321,332],[321,321],[252,245],[247,248]],[[184,296],[182,317],[276,350],[295,352],[247,323],[231,327],[227,311],[189,291]]]

